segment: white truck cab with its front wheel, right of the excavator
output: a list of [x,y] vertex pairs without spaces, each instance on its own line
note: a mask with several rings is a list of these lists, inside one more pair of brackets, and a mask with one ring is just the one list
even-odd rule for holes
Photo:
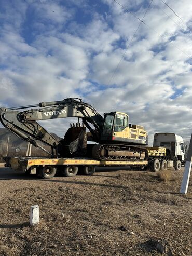
[[154,135],[153,146],[166,147],[169,160],[173,160],[175,169],[185,165],[185,148],[183,138],[171,132],[159,132]]

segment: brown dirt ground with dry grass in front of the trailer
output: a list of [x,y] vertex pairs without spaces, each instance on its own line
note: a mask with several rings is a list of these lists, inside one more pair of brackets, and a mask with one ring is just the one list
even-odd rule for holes
[[160,255],[162,239],[168,255],[192,255],[192,188],[179,194],[182,173],[172,170],[169,183],[113,168],[43,180],[0,166],[0,255]]

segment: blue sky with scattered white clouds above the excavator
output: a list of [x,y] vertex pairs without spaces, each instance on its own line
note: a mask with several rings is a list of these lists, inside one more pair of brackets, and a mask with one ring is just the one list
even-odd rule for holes
[[[189,28],[161,0],[117,1],[140,19],[152,2],[146,25],[113,0],[0,0],[0,106],[80,97],[128,113],[150,141],[189,139],[191,0],[164,0]],[[63,136],[70,121],[42,125]]]

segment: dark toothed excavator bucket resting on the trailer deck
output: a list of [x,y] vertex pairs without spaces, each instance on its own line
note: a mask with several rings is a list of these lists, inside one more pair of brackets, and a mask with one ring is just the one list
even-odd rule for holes
[[60,143],[62,144],[62,152],[60,149],[62,156],[68,156],[69,153],[77,156],[85,156],[87,153],[86,127],[71,125]]

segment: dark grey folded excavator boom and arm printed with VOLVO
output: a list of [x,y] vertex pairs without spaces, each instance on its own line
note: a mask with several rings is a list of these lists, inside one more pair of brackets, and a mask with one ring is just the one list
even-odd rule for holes
[[[34,107],[39,108],[34,109]],[[20,109],[29,110],[17,111]],[[90,130],[93,140],[99,142],[104,119],[91,105],[82,102],[81,99],[68,98],[62,101],[41,102],[37,105],[12,107],[10,109],[2,107],[0,109],[0,121],[7,129],[15,133],[19,138],[40,147],[51,156],[61,155],[63,140],[66,144],[67,139],[56,140],[36,121],[66,117],[81,118],[83,124]],[[38,141],[51,146],[51,153],[44,149]],[[55,153],[54,150],[56,151]]]

